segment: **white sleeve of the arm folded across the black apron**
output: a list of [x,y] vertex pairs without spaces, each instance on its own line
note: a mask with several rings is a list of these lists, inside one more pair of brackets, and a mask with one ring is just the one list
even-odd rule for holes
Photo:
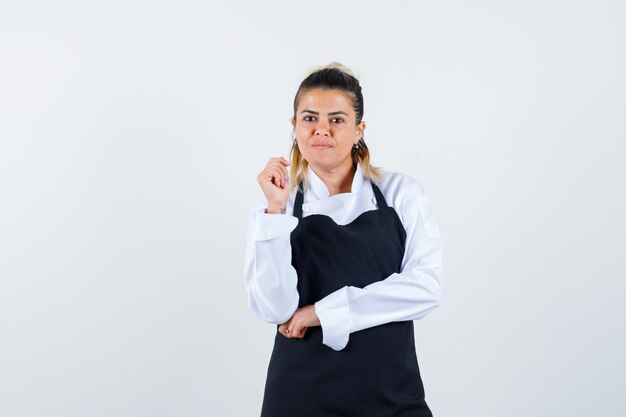
[[399,201],[395,209],[406,230],[401,272],[363,288],[344,286],[315,303],[322,342],[334,350],[348,344],[350,333],[421,319],[441,303],[443,245],[430,198],[413,181]]

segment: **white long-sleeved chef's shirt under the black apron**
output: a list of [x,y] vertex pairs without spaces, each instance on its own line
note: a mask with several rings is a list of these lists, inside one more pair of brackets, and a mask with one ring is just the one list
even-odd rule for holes
[[[323,343],[334,350],[347,344],[350,333],[384,323],[421,319],[441,303],[442,242],[430,199],[417,180],[384,171],[378,184],[387,205],[393,207],[406,230],[401,272],[363,288],[344,286],[315,303]],[[302,216],[323,214],[337,224],[348,224],[368,210],[376,198],[360,165],[349,193],[329,196],[324,182],[308,168],[309,187],[304,192]],[[291,190],[286,214],[265,213],[261,193],[250,211],[244,280],[248,307],[261,320],[282,324],[298,308],[298,277],[291,265],[290,234],[298,225]]]

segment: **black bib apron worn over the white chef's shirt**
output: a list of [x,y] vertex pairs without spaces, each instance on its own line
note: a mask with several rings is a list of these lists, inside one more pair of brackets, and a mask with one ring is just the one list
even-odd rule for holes
[[[331,217],[302,217],[298,189],[291,233],[291,263],[298,275],[298,307],[345,285],[365,287],[400,272],[406,231],[380,189],[378,210],[347,225]],[[365,184],[363,185],[365,186]],[[276,331],[261,417],[432,417],[424,400],[413,321],[399,321],[350,334],[345,348],[322,344],[322,328],[302,339]]]

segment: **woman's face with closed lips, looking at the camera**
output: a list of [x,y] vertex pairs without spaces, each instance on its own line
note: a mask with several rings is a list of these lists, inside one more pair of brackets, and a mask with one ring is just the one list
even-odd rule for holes
[[352,100],[339,90],[314,89],[300,97],[291,119],[304,159],[325,170],[352,166],[352,146],[365,130],[356,124]]

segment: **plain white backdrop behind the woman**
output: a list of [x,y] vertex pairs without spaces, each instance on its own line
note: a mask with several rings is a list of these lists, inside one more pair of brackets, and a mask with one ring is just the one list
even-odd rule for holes
[[444,300],[415,325],[434,415],[623,415],[625,18],[1,0],[0,415],[259,415],[275,327],[246,306],[248,211],[331,61],[362,82],[373,163],[433,201]]

